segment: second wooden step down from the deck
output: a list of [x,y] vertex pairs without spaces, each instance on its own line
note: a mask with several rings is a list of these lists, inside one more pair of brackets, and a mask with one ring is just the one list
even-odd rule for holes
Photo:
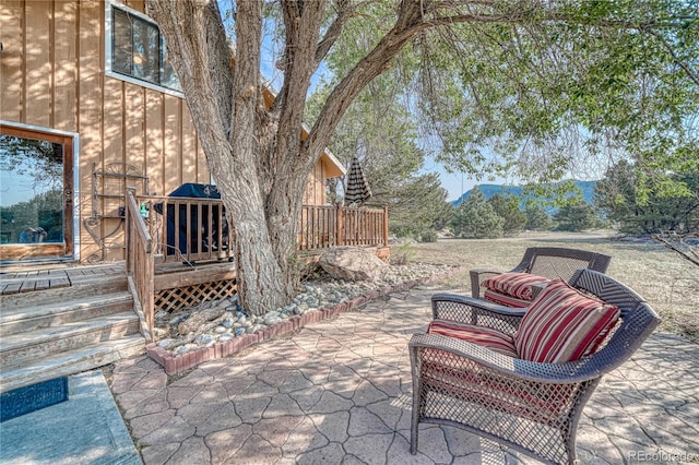
[[133,297],[126,290],[79,300],[2,309],[0,336],[60,326],[80,320],[133,310]]

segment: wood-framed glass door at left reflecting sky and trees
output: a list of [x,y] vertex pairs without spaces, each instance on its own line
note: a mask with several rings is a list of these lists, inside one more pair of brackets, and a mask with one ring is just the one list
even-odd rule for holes
[[0,261],[73,257],[73,143],[0,127]]

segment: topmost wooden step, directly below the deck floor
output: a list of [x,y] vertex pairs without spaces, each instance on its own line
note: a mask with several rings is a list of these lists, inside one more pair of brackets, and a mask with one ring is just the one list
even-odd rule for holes
[[0,296],[0,309],[4,313],[8,310],[40,307],[60,301],[71,301],[105,294],[128,290],[126,272],[108,276],[85,276],[68,287],[56,289],[34,290],[32,293],[10,294]]

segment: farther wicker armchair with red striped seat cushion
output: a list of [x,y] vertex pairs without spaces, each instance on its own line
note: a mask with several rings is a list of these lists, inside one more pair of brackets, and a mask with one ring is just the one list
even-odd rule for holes
[[[510,293],[511,289],[499,290],[497,284],[494,286],[493,282],[498,281],[498,276],[505,277],[505,275],[524,275],[524,281],[528,283],[521,283],[522,277],[519,278],[520,286],[528,284],[531,287],[532,284],[537,282],[553,279],[556,277],[562,277],[564,279],[570,279],[576,270],[589,269],[605,273],[607,266],[609,266],[611,257],[603,253],[591,252],[587,250],[566,249],[559,247],[530,247],[525,250],[524,257],[520,263],[508,272],[493,271],[493,270],[471,270],[471,294],[474,298],[486,298],[507,307],[526,307],[529,301],[533,298],[530,289],[525,289],[525,295],[522,296],[519,293]],[[529,276],[529,279],[526,277]],[[543,278],[543,279],[540,279]],[[508,285],[506,285],[507,287]],[[536,289],[534,289],[535,296]]]

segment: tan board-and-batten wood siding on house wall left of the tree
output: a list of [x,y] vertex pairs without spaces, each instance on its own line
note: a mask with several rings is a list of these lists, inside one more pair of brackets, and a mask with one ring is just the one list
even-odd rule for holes
[[[121,3],[144,11],[143,1]],[[147,176],[151,194],[210,182],[185,99],[105,75],[104,0],[0,0],[0,119],[80,136],[82,260],[103,258],[84,226],[93,214],[93,166]],[[126,183],[143,193],[142,183]],[[122,201],[108,195],[121,193],[123,181],[97,184],[98,213],[118,216]],[[106,259],[123,258],[120,219],[103,218],[93,229],[114,245]]]

